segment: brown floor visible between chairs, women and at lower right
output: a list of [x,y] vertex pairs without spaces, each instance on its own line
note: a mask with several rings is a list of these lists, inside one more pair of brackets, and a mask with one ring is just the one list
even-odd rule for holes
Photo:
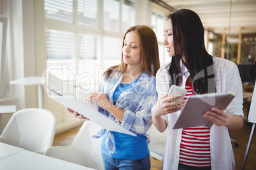
[[[78,133],[80,127],[75,128],[71,131],[68,131],[64,134],[59,134],[55,136],[53,141],[54,146],[65,146],[70,145],[74,140],[76,133]],[[232,143],[234,157],[236,161],[236,169],[241,169],[243,165],[243,159],[245,157],[245,150],[248,144],[250,132],[252,129],[252,124],[245,124],[243,128],[239,131],[229,130],[229,134],[232,139],[236,140],[239,144],[239,147],[234,147]],[[161,161],[151,158],[152,170],[160,169]],[[250,152],[248,154],[248,159],[246,161],[246,170],[256,169],[256,134],[253,136],[252,145],[250,147]]]

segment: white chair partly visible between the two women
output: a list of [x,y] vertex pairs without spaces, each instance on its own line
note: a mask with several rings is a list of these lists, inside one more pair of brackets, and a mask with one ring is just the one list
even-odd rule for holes
[[148,143],[150,156],[162,161],[164,156],[164,146],[166,145],[167,129],[163,133],[160,133],[152,124],[148,130],[148,134],[150,135],[150,143]]

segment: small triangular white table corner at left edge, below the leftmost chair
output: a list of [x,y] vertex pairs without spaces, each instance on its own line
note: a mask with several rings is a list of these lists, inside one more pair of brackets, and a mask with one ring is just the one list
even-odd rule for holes
[[16,154],[22,150],[24,150],[24,148],[18,148],[0,142],[0,159]]

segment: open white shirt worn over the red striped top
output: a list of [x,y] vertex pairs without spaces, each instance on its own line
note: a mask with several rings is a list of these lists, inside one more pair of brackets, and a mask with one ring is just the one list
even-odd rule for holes
[[[187,68],[183,66],[185,75],[182,75],[181,88],[185,88],[185,82],[190,75]],[[168,74],[169,63],[162,66],[157,72],[158,96],[166,95],[169,91],[171,77]],[[215,74],[216,93],[233,91],[236,96],[231,101],[225,112],[229,115],[241,115],[243,117],[243,90],[238,67],[235,63],[224,58],[213,57],[213,70]],[[196,109],[196,108],[195,108]],[[162,116],[167,126],[166,146],[162,169],[178,169],[180,159],[180,142],[182,129],[172,129],[178,119],[180,111]],[[234,154],[228,128],[213,124],[210,130],[211,169],[235,169]]]

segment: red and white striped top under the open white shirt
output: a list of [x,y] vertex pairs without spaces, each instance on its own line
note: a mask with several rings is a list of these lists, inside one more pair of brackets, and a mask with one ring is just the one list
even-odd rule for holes
[[[186,96],[194,95],[192,84],[186,82]],[[204,126],[184,128],[180,143],[180,163],[187,166],[211,166],[210,128]]]

